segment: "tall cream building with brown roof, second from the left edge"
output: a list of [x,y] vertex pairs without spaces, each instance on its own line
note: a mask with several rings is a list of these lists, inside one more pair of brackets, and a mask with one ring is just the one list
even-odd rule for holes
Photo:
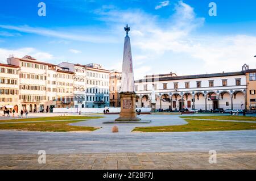
[[19,66],[19,101],[23,110],[43,112],[47,103],[47,75],[56,65],[31,56],[7,58],[7,64]]

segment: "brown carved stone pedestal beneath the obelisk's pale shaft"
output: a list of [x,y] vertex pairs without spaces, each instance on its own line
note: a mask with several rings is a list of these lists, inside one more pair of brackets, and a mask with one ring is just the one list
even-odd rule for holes
[[115,121],[140,121],[135,111],[136,94],[135,92],[121,92],[121,112]]

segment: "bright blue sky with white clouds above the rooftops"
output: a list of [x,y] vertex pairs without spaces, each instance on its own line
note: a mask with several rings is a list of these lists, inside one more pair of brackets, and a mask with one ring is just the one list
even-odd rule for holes
[[[46,16],[38,16],[38,3]],[[209,16],[209,3],[217,16]],[[122,65],[131,27],[135,78],[255,68],[256,1],[231,0],[0,0],[0,61],[9,54],[38,60]]]

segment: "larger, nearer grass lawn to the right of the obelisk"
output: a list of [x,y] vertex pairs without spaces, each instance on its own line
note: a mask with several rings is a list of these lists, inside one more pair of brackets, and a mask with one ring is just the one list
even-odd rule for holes
[[136,127],[139,132],[190,132],[190,131],[230,131],[256,129],[256,123],[186,120],[188,124],[163,127]]

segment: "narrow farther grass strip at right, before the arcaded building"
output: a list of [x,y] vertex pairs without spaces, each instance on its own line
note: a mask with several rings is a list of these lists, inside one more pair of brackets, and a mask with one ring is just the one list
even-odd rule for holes
[[183,119],[193,118],[193,119],[216,119],[216,120],[237,120],[237,121],[256,121],[254,116],[180,116]]

